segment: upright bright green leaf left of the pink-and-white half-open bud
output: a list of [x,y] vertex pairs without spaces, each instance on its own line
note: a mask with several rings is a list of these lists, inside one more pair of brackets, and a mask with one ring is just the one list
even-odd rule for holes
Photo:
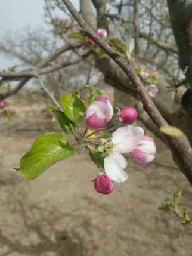
[[85,105],[83,104],[82,100],[77,96],[77,94],[69,92],[64,95],[61,100],[60,104],[63,107],[64,113],[70,121],[76,123],[83,117],[83,113],[86,110]]

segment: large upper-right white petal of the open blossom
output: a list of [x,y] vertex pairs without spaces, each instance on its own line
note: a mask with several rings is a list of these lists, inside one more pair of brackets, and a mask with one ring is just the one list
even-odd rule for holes
[[144,130],[134,125],[126,125],[116,129],[112,134],[113,144],[116,146],[115,151],[120,153],[129,153],[143,139]]

